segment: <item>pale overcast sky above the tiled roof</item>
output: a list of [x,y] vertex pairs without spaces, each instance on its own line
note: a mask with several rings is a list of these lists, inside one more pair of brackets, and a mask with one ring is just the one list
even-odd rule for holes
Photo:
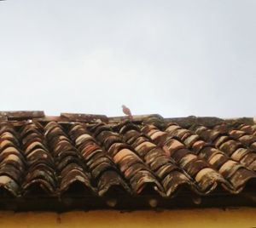
[[256,1],[0,2],[0,110],[256,116]]

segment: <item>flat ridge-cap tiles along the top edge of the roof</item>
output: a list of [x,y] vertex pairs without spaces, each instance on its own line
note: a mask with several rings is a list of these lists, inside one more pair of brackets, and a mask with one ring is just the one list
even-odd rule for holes
[[[254,117],[236,117],[236,118],[219,118],[219,117],[161,117],[159,114],[148,114],[148,115],[134,115],[132,116],[133,122],[143,122],[148,118],[158,118],[164,122],[177,123],[183,127],[189,127],[193,124],[203,124],[208,127],[222,123],[245,123],[253,125],[256,123]],[[107,117],[106,115],[97,114],[86,114],[86,113],[67,113],[63,112],[60,116],[45,116],[44,111],[0,111],[0,121],[26,121],[26,120],[37,120],[39,122],[86,122],[86,123],[119,123],[129,119],[127,116],[119,117]]]

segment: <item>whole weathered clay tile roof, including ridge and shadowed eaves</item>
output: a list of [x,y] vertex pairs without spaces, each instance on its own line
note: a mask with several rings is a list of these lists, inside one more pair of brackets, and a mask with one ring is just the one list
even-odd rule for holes
[[0,120],[2,209],[255,204],[253,118],[2,111]]

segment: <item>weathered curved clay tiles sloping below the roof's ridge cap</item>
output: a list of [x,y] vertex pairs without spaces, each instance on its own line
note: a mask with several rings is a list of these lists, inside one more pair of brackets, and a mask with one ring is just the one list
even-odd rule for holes
[[15,197],[239,193],[256,178],[256,128],[144,123],[0,123],[0,187]]

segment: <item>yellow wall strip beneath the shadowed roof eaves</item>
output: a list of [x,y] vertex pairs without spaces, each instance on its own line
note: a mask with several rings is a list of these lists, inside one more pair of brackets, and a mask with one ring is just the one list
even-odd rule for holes
[[256,227],[256,208],[187,209],[164,212],[90,211],[55,213],[0,213],[0,227]]

